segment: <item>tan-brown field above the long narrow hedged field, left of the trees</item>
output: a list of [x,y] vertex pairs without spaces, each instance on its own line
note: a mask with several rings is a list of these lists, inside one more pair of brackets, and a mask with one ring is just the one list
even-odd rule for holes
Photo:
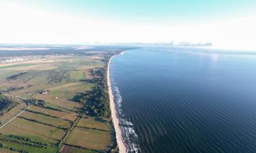
[[57,97],[57,99],[55,99],[53,95],[37,95],[35,98],[41,99],[47,103],[57,105],[59,107],[62,107],[63,109],[70,110],[70,111],[76,108],[76,102],[69,101],[62,97]]

